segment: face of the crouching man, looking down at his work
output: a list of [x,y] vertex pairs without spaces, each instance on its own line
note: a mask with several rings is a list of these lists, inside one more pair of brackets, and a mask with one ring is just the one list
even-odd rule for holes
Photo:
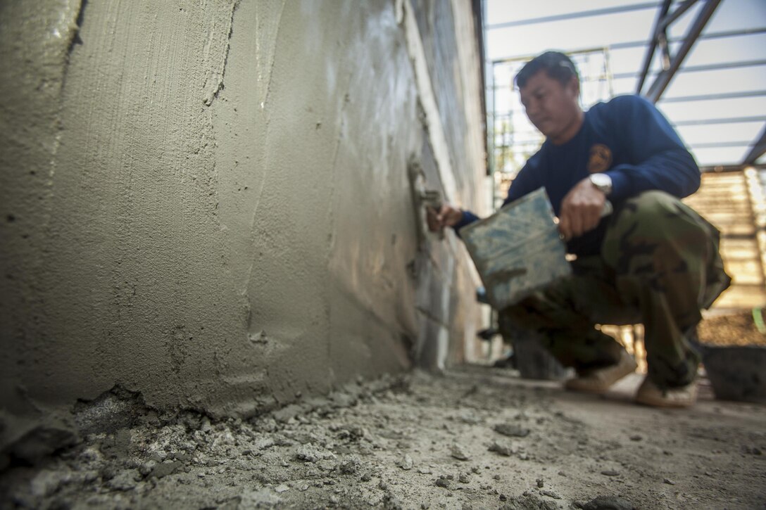
[[566,85],[539,70],[519,90],[532,124],[553,143],[568,142],[580,128],[580,84],[572,77]]

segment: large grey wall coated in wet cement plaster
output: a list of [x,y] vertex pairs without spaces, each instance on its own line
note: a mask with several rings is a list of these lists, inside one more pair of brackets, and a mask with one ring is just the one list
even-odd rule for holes
[[3,444],[115,386],[247,416],[463,359],[412,182],[486,207],[478,49],[414,3],[0,3]]

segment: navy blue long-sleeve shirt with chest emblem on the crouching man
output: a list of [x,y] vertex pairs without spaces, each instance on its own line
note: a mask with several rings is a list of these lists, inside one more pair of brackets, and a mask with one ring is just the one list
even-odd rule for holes
[[[546,140],[519,171],[503,205],[541,186],[555,214],[561,201],[582,179],[603,172],[612,178],[609,200],[615,210],[642,191],[661,190],[683,198],[699,188],[699,167],[678,134],[656,107],[640,96],[617,96],[584,113],[574,138],[561,145]],[[470,211],[455,225],[460,230],[479,219]],[[570,253],[601,250],[607,222],[568,241]]]

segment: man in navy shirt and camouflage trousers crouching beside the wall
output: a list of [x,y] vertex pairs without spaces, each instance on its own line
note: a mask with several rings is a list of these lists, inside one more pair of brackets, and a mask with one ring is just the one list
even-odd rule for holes
[[[530,60],[516,85],[529,120],[546,139],[505,203],[544,187],[577,260],[573,276],[500,310],[501,332],[525,330],[575,368],[568,389],[604,392],[636,363],[595,326],[642,323],[648,374],[636,400],[692,405],[700,310],[731,281],[719,231],[679,200],[699,188],[696,162],[640,96],[618,96],[583,112],[577,70],[564,54],[548,51]],[[607,200],[614,212],[602,218]],[[428,215],[431,230],[459,232],[477,219],[450,204]]]

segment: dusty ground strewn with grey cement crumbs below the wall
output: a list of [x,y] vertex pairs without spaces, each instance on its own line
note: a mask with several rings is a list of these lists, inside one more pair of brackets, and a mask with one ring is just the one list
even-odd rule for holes
[[690,410],[639,407],[639,383],[597,397],[470,366],[249,421],[136,404],[7,469],[2,508],[764,508],[766,407],[706,386]]

